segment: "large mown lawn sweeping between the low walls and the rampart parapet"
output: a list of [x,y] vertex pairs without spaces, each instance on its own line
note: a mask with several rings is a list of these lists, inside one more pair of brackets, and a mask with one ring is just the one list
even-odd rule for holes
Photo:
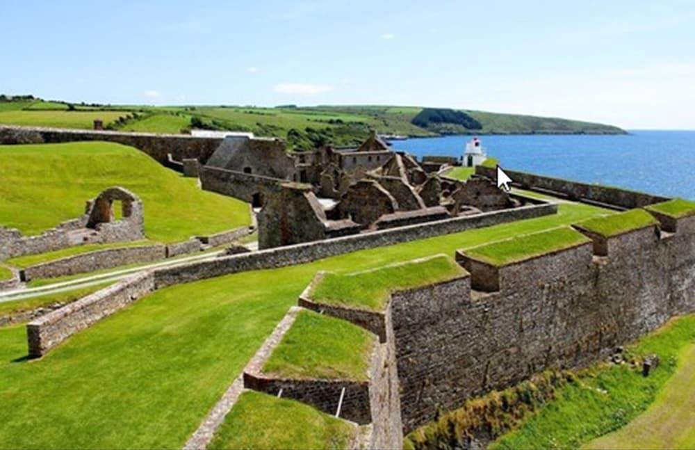
[[453,255],[606,212],[561,204],[553,216],[181,284],[33,362],[13,362],[26,356],[24,328],[2,329],[0,448],[180,448],[317,271]]

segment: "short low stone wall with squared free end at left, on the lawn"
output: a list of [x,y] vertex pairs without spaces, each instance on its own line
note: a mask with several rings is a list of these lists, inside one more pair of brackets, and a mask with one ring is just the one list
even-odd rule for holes
[[152,272],[142,272],[101,289],[26,325],[29,356],[40,357],[76,332],[121,310],[154,290]]

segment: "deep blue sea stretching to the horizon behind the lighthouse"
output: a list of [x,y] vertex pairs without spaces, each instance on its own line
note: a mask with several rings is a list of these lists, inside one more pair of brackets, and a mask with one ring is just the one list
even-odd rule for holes
[[[695,200],[695,131],[628,131],[626,135],[484,135],[502,168]],[[473,136],[394,140],[420,159],[461,156]]]

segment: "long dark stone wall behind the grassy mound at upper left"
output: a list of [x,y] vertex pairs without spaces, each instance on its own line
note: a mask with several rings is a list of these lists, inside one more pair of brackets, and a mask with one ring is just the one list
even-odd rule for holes
[[0,144],[52,144],[78,140],[104,140],[136,147],[165,166],[167,154],[171,154],[176,161],[197,159],[204,164],[222,143],[222,138],[199,138],[185,134],[122,133],[0,125]]

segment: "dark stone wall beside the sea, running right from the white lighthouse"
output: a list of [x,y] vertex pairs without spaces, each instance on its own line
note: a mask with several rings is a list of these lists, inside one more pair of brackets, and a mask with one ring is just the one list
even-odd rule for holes
[[[484,175],[490,179],[497,179],[496,168],[476,166],[475,173]],[[517,186],[532,191],[541,191],[550,194],[566,197],[570,200],[581,200],[583,202],[593,202],[598,204],[613,205],[621,209],[642,208],[650,204],[664,202],[668,198],[659,195],[651,195],[636,191],[627,191],[621,188],[599,186],[598,184],[587,184],[571,182],[566,179],[543,177],[526,172],[516,172],[506,170],[505,172],[512,178],[512,186]]]

